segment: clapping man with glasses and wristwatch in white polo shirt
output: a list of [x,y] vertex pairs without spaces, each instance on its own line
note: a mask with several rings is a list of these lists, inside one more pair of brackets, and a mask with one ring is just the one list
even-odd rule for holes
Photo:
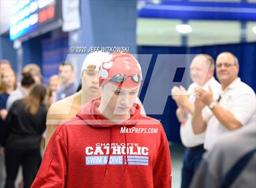
[[[255,93],[238,78],[238,72],[238,59],[232,53],[223,52],[216,59],[216,75],[221,82],[219,102],[215,102],[211,90],[196,92],[193,131],[200,134],[206,130],[206,150],[212,149],[222,135],[246,124],[255,125]],[[210,111],[202,110],[205,106]]]

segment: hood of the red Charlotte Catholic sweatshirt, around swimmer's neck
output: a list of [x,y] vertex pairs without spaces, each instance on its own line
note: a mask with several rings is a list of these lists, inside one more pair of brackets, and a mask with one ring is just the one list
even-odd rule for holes
[[130,118],[121,123],[116,123],[110,119],[105,118],[99,110],[99,104],[101,98],[91,99],[82,109],[77,113],[77,117],[80,118],[91,127],[122,127],[122,126],[134,126],[140,119],[140,105],[134,103],[130,109]]

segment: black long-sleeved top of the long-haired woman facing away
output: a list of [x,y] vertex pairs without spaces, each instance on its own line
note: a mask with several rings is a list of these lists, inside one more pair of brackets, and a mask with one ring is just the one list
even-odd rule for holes
[[46,129],[46,107],[41,104],[35,116],[23,104],[23,99],[13,102],[5,120],[4,146],[12,149],[40,147],[41,134]]

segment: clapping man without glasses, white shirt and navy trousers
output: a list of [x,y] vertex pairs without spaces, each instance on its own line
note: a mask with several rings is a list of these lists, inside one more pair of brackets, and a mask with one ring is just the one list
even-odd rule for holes
[[[189,187],[205,152],[205,133],[195,135],[191,125],[194,113],[194,89],[196,87],[208,89],[208,86],[211,86],[218,91],[221,86],[213,77],[214,70],[215,61],[211,56],[206,54],[196,55],[190,64],[190,77],[193,83],[188,87],[188,90],[185,90],[182,86],[174,86],[171,90],[172,99],[176,101],[178,106],[176,115],[181,123],[180,138],[182,144],[186,147],[182,166],[182,188]],[[215,98],[218,98],[218,93],[216,92]],[[204,110],[208,109],[205,107]]]

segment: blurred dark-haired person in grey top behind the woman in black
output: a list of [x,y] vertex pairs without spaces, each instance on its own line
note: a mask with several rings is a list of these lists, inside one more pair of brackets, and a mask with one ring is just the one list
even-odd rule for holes
[[34,76],[30,72],[23,72],[21,78],[21,86],[12,92],[6,102],[6,109],[9,110],[13,102],[22,99],[29,93],[30,87],[35,84]]

